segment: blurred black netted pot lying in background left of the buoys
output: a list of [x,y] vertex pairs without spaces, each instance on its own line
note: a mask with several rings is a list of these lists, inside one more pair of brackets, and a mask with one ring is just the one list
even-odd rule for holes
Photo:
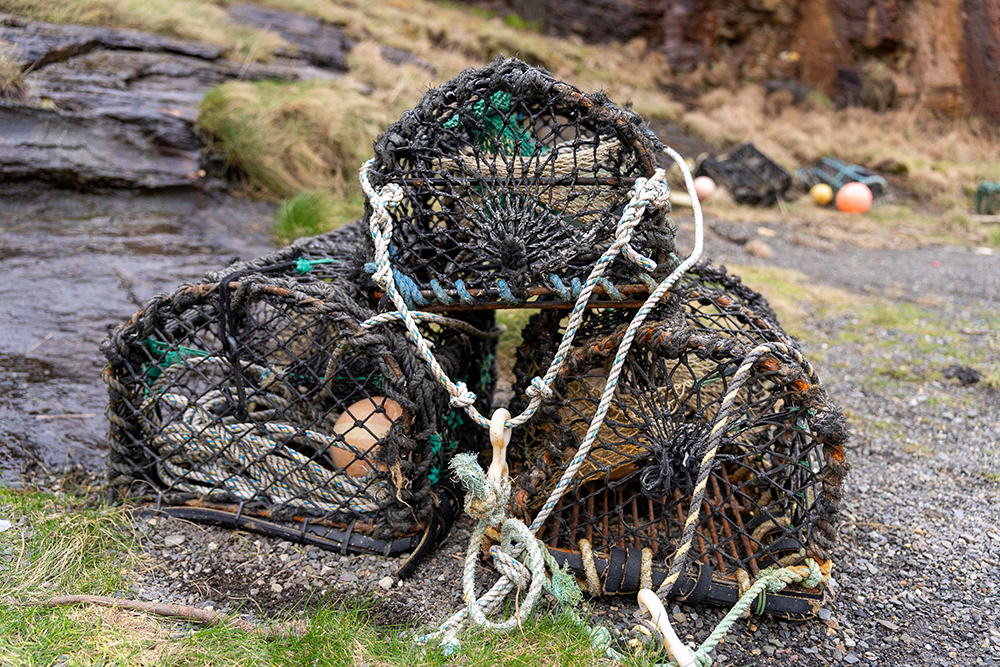
[[751,143],[705,158],[695,176],[708,176],[738,203],[754,206],[771,206],[792,185],[791,175]]

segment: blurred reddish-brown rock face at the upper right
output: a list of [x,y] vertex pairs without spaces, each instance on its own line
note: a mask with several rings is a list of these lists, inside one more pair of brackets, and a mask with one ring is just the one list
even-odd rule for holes
[[676,72],[1000,118],[1000,0],[505,0],[555,34],[646,40]]

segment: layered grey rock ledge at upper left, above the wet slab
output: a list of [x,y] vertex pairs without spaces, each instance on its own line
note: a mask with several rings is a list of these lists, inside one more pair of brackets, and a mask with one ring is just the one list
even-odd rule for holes
[[[336,41],[330,30],[325,39]],[[23,103],[0,99],[0,180],[75,188],[198,185],[205,171],[195,120],[208,89],[237,77],[343,70],[342,41],[247,66],[212,44],[2,14],[0,40],[15,45],[28,86]]]

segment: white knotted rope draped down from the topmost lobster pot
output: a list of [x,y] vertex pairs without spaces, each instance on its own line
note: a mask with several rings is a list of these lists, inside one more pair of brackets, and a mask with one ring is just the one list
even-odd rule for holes
[[[553,508],[559,502],[559,499],[562,498],[566,489],[569,488],[569,485],[572,483],[577,471],[583,464],[587,454],[590,452],[590,449],[597,438],[597,434],[604,423],[608,406],[611,403],[615,387],[618,383],[618,377],[621,374],[625,359],[628,356],[628,352],[632,346],[632,341],[634,340],[639,327],[642,326],[646,317],[659,304],[664,295],[666,295],[670,288],[673,287],[674,283],[676,283],[677,280],[684,275],[684,273],[701,257],[704,240],[704,221],[702,217],[701,204],[698,201],[698,196],[694,189],[694,179],[691,177],[691,172],[680,154],[672,148],[667,148],[666,152],[680,167],[681,173],[684,175],[684,184],[691,197],[691,204],[692,209],[694,210],[695,219],[694,249],[691,251],[691,254],[687,257],[687,259],[681,262],[681,264],[657,286],[652,294],[649,295],[645,303],[643,303],[642,307],[639,309],[639,312],[636,313],[631,324],[629,324],[629,327],[625,332],[625,336],[618,347],[618,353],[615,356],[614,364],[611,367],[611,371],[608,373],[608,381],[605,385],[604,394],[601,396],[601,402],[598,404],[597,411],[591,421],[587,435],[584,437],[583,443],[577,450],[576,456],[573,457],[569,467],[563,473],[559,483],[550,494],[545,506],[542,507],[541,511],[539,511],[535,520],[532,522],[530,527],[531,534],[537,533],[538,529],[548,519]],[[469,416],[472,417],[476,423],[480,424],[484,428],[489,428],[490,422],[479,414],[479,412],[472,405],[472,403],[476,400],[475,394],[468,391],[463,383],[454,383],[447,377],[446,374],[443,373],[440,364],[437,363],[433,353],[427,347],[426,342],[417,330],[416,322],[412,317],[412,313],[407,308],[402,295],[396,289],[393,271],[389,261],[389,244],[392,240],[392,219],[389,215],[388,207],[394,206],[402,201],[403,192],[402,189],[395,183],[389,183],[380,191],[376,192],[368,180],[368,172],[371,169],[373,162],[373,160],[369,160],[365,163],[365,165],[361,168],[360,173],[361,187],[368,196],[373,209],[370,226],[372,239],[375,242],[376,270],[372,275],[372,279],[376,282],[376,284],[385,290],[390,300],[399,310],[400,317],[406,325],[410,338],[414,345],[416,345],[418,352],[424,356],[438,380],[451,394],[452,405],[465,407]],[[584,310],[586,309],[587,303],[590,301],[591,294],[593,293],[598,281],[603,276],[605,269],[614,260],[614,258],[620,253],[646,270],[651,271],[656,268],[655,262],[648,257],[641,255],[634,248],[632,248],[630,241],[632,232],[639,221],[642,220],[642,216],[646,208],[648,206],[665,208],[669,203],[669,194],[670,191],[664,182],[664,172],[662,169],[657,169],[652,178],[636,179],[635,186],[632,189],[632,198],[622,212],[622,217],[618,221],[618,226],[615,232],[615,241],[604,252],[604,254],[601,255],[601,258],[597,261],[597,264],[591,271],[590,277],[584,284],[576,305],[573,308],[573,312],[570,315],[569,323],[567,324],[566,331],[563,334],[562,342],[559,345],[559,349],[557,350],[548,371],[544,377],[536,377],[532,380],[531,386],[526,392],[528,396],[531,397],[528,407],[517,417],[507,420],[504,424],[505,428],[510,429],[527,422],[538,409],[542,400],[551,395],[552,382],[561,370],[563,363],[565,362],[566,355],[573,344],[573,339],[576,336],[577,329],[583,319]],[[478,546],[478,541],[475,545],[470,544],[470,553],[471,549],[478,549]],[[485,595],[474,602],[470,602],[467,608],[456,612],[451,618],[445,621],[437,631],[420,637],[418,641],[426,642],[431,639],[440,638],[442,640],[442,645],[446,649],[454,650],[458,645],[456,635],[470,613],[473,619],[481,624],[480,619],[485,619],[486,616],[492,613],[494,609],[507,597],[507,594],[515,585],[515,582],[512,581],[511,578],[502,576]]]

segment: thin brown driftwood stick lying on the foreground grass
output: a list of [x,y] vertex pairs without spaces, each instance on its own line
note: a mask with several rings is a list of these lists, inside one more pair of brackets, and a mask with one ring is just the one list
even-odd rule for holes
[[168,604],[166,602],[144,602],[143,600],[125,600],[110,598],[103,595],[60,595],[51,600],[29,602],[26,607],[65,607],[77,604],[96,604],[115,609],[142,611],[155,616],[176,618],[182,621],[198,623],[207,627],[231,623],[234,627],[248,634],[257,635],[263,639],[283,639],[286,637],[301,637],[306,633],[308,624],[304,621],[287,621],[269,627],[254,625],[238,616],[230,616],[211,609],[199,609],[186,604]]

